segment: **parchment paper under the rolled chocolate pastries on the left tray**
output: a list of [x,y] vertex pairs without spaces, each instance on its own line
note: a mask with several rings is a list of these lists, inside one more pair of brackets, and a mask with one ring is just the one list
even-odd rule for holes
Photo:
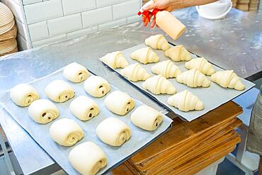
[[[63,79],[64,81],[67,81],[66,79],[64,79],[62,75],[62,69],[53,72],[47,77],[42,77],[41,79],[32,81],[30,82],[30,84],[34,86],[35,89],[38,91],[38,93],[40,94],[40,98],[48,99],[47,96],[45,96],[45,86],[47,86],[47,84],[49,84],[52,80],[55,79]],[[89,94],[86,94],[86,92],[84,91],[84,82],[81,82],[80,84],[74,84],[71,81],[67,82],[72,86],[72,88],[76,92],[76,96],[89,96]],[[111,85],[110,92],[113,92],[115,90],[118,89],[115,86]],[[76,96],[74,98],[76,98]],[[132,96],[132,94],[130,94],[130,96]],[[61,118],[71,118],[75,120],[77,123],[79,123],[81,128],[84,130],[85,135],[80,142],[76,143],[76,145],[79,145],[82,142],[91,141],[95,142],[96,145],[101,147],[101,149],[103,149],[103,151],[106,152],[108,164],[105,168],[101,169],[101,171],[99,171],[98,174],[103,174],[110,171],[118,164],[124,162],[125,159],[128,159],[132,154],[135,154],[135,152],[139,151],[139,149],[142,149],[142,147],[148,145],[150,142],[156,139],[156,137],[158,137],[161,134],[164,134],[164,132],[171,128],[172,120],[168,118],[166,115],[163,115],[163,123],[161,123],[161,125],[159,125],[159,128],[157,128],[153,132],[142,130],[133,125],[130,121],[130,115],[132,111],[135,110],[135,108],[142,105],[142,103],[140,101],[135,100],[134,97],[133,98],[135,100],[135,108],[132,109],[132,111],[130,111],[129,113],[127,113],[127,115],[120,116],[111,113],[108,110],[108,108],[104,106],[103,100],[104,98],[106,98],[106,96],[104,96],[103,98],[94,98],[92,96],[89,96],[89,98],[92,98],[94,101],[96,101],[101,112],[95,118],[83,122],[78,118],[74,117],[74,115],[69,110],[69,104],[74,98],[64,103],[54,102],[57,108],[59,109],[60,113],[59,118],[57,118],[56,120],[59,120]],[[28,115],[28,107],[16,106],[16,104],[13,103],[13,101],[11,101],[11,98],[9,97],[9,91],[7,91],[6,94],[4,94],[4,96],[1,97],[1,104],[4,106],[6,111],[11,114],[11,116],[16,120],[16,122],[19,123],[31,135],[31,137],[33,137],[33,139],[36,142],[38,142],[38,144],[43,149],[45,149],[45,151],[48,154],[50,154],[52,159],[54,159],[55,162],[57,162],[57,164],[59,164],[59,166],[61,166],[62,169],[64,169],[64,171],[67,172],[67,174],[79,174],[78,171],[76,171],[71,166],[68,160],[70,150],[76,145],[72,147],[63,147],[54,142],[50,137],[49,128],[50,125],[52,125],[52,123],[55,122],[55,120],[46,125],[40,125],[38,123],[35,123]],[[109,117],[115,117],[120,120],[123,120],[125,123],[127,123],[127,125],[130,126],[132,136],[130,140],[125,142],[121,147],[112,147],[110,145],[106,145],[105,143],[101,142],[101,140],[99,140],[99,138],[96,136],[96,126],[99,123],[101,123],[102,120]]]

